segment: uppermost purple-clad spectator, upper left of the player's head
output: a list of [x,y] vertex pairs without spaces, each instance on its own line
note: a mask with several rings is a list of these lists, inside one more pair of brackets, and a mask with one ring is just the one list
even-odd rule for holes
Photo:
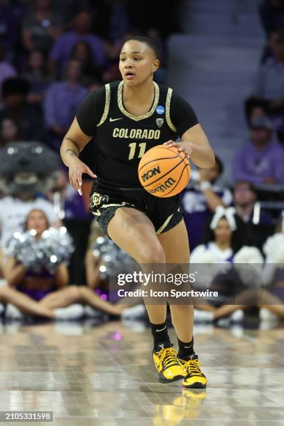
[[61,72],[72,54],[72,48],[78,41],[88,42],[93,52],[93,65],[102,66],[106,60],[106,52],[102,40],[90,33],[92,16],[88,12],[80,12],[74,20],[74,31],[68,31],[58,37],[49,54],[49,70]]

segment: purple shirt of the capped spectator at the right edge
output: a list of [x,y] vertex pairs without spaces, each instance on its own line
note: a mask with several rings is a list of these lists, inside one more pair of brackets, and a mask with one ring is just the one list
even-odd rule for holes
[[277,142],[269,142],[264,150],[258,150],[249,142],[235,156],[233,178],[235,182],[247,180],[255,185],[264,184],[266,178],[274,178],[278,184],[284,184],[283,164],[284,150]]

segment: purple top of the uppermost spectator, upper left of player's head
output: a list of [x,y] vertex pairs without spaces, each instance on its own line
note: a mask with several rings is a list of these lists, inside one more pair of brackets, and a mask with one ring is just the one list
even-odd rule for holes
[[49,58],[54,59],[56,62],[58,61],[59,68],[62,70],[71,57],[72,48],[79,41],[87,42],[90,45],[90,49],[93,52],[94,65],[104,64],[106,61],[106,54],[102,40],[94,34],[78,36],[74,31],[69,31],[58,37],[52,47]]

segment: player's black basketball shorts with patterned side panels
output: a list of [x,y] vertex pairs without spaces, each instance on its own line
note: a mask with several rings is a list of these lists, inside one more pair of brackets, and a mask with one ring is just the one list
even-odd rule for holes
[[145,213],[156,234],[170,230],[183,218],[179,196],[158,198],[142,187],[116,187],[96,179],[90,192],[90,210],[106,235],[109,221],[120,207],[132,207]]

